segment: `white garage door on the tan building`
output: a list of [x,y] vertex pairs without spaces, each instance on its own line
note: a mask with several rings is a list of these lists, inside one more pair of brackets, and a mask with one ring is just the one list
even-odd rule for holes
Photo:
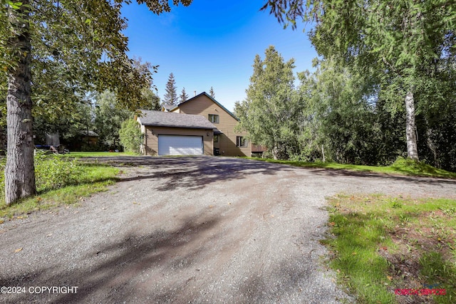
[[159,155],[201,155],[201,136],[158,135]]

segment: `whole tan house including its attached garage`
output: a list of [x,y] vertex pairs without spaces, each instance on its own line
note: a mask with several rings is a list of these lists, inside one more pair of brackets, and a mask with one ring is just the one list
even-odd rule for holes
[[203,92],[174,108],[141,110],[138,117],[146,155],[204,154],[250,156],[246,132],[235,132],[237,118]]

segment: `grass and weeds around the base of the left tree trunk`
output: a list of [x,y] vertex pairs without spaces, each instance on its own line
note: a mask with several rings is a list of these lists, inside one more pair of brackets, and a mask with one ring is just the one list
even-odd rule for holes
[[65,204],[77,204],[83,197],[101,192],[117,180],[119,169],[105,164],[81,163],[60,156],[35,159],[38,194],[6,206],[4,202],[4,159],[0,164],[0,223],[26,217],[33,211]]

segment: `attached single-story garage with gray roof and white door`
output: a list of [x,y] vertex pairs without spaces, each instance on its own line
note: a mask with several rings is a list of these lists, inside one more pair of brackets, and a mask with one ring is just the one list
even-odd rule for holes
[[141,110],[145,155],[212,155],[215,126],[200,115]]

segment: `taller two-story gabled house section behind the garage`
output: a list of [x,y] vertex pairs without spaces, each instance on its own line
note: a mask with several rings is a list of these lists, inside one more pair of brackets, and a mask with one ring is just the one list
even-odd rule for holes
[[201,115],[212,122],[214,130],[214,155],[250,156],[252,145],[246,139],[247,132],[235,132],[237,118],[211,95],[203,92],[186,100],[171,112]]

